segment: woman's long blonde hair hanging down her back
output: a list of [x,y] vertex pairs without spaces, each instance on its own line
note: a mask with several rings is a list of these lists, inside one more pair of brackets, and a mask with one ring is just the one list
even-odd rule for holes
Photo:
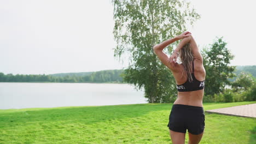
[[191,66],[191,62],[193,61],[193,53],[191,51],[191,47],[190,47],[190,44],[187,43],[185,44],[181,50],[179,50],[179,57],[181,57],[181,61],[182,61],[182,64],[183,64],[183,71],[182,71],[182,76],[184,76],[184,71],[185,71],[185,74],[188,76],[188,80],[189,82],[191,82],[193,79],[192,79],[192,66]]

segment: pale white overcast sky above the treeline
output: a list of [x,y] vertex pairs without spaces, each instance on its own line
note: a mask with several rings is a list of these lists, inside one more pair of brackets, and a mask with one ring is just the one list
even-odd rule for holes
[[[192,3],[201,15],[188,31],[199,46],[223,36],[231,65],[256,65],[255,1]],[[127,67],[114,58],[113,6],[102,1],[0,1],[0,72],[54,74]]]

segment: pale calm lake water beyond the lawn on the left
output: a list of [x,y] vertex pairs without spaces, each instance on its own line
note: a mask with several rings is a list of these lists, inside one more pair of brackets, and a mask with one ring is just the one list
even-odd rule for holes
[[0,109],[144,103],[130,84],[0,82]]

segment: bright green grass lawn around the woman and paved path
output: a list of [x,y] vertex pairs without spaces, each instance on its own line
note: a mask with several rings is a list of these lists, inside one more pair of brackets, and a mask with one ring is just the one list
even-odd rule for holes
[[[256,103],[203,103],[204,110]],[[0,110],[0,143],[171,143],[172,104]],[[256,119],[205,113],[200,143],[255,143]],[[188,132],[186,140],[188,142]]]

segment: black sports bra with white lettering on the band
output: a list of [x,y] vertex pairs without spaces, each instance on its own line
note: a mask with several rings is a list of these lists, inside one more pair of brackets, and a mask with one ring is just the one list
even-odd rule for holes
[[179,92],[191,92],[191,91],[197,91],[200,89],[203,89],[205,87],[205,80],[203,81],[199,81],[195,78],[194,75],[194,59],[193,59],[193,73],[192,75],[192,82],[189,82],[189,80],[187,80],[185,83],[183,83],[182,85],[177,85],[177,89]]

